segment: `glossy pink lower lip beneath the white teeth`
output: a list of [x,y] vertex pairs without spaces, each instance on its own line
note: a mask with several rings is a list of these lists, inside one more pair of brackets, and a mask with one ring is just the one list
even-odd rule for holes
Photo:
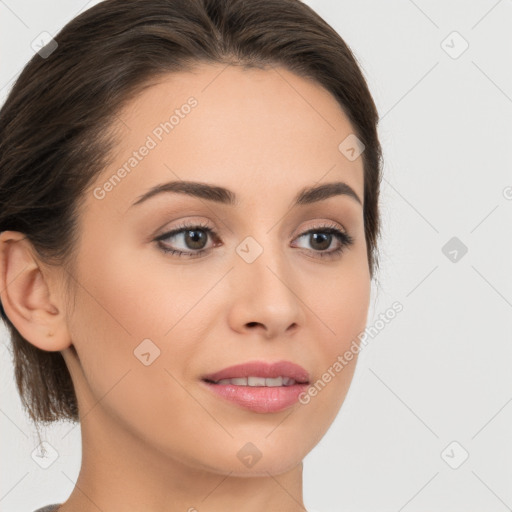
[[279,412],[292,406],[309,384],[293,386],[235,386],[201,381],[218,396],[254,412]]

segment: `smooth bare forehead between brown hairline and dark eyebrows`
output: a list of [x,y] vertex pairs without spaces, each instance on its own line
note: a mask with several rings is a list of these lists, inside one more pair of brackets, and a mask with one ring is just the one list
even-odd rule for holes
[[121,174],[108,193],[119,208],[179,179],[269,199],[344,181],[363,198],[362,158],[351,161],[339,149],[354,132],[340,105],[316,82],[281,67],[203,64],[164,75],[117,119],[116,155],[96,186]]

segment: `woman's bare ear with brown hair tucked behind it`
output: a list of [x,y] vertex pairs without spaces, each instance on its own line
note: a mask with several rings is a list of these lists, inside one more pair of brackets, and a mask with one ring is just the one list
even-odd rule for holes
[[27,341],[41,350],[58,351],[69,347],[71,339],[57,294],[60,287],[49,271],[43,273],[45,268],[25,234],[0,233],[0,299],[5,313]]

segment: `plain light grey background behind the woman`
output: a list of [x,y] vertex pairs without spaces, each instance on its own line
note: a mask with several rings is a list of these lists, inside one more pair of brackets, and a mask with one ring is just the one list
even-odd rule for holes
[[[38,34],[94,3],[0,0],[1,103]],[[340,414],[305,459],[306,506],[510,509],[512,1],[306,3],[354,51],[381,117],[384,236],[368,325],[394,301],[404,308],[362,351]],[[468,249],[455,262],[442,252],[452,237]],[[48,429],[59,457],[48,469],[32,460],[39,440],[7,344],[4,331],[0,510],[32,511],[71,493],[80,429]]]

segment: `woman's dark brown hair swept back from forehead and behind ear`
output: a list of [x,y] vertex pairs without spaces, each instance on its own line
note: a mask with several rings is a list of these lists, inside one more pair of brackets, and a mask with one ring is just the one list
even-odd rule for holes
[[[349,47],[299,0],[106,0],[71,20],[36,53],[0,110],[0,232],[19,231],[41,260],[75,256],[84,191],[115,147],[116,113],[165,73],[201,62],[279,65],[339,102],[363,142],[368,264],[377,266],[381,146],[378,114]],[[51,51],[53,50],[53,51]],[[341,142],[341,141],[340,141]],[[79,421],[60,352],[11,333],[15,378],[34,423]]]

